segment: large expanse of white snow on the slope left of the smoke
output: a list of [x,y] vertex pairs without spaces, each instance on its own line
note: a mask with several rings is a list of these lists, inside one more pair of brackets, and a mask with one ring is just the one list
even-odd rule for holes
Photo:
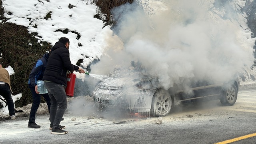
[[[70,59],[73,64],[79,59],[85,59],[84,65],[91,61],[84,58],[81,54],[91,56],[94,59],[100,58],[104,49],[104,38],[111,36],[110,27],[102,29],[103,22],[93,16],[96,14],[96,6],[93,4],[86,5],[85,2],[77,0],[63,1],[27,1],[6,0],[3,2],[6,11],[12,15],[5,14],[10,18],[8,22],[28,27],[29,32],[37,32],[39,40],[47,41],[52,44],[58,41],[60,37],[70,39]],[[69,9],[68,4],[76,4],[76,7]],[[46,14],[51,12],[51,18],[44,19]],[[71,16],[72,15],[72,16]],[[31,20],[30,20],[31,19]],[[35,28],[35,25],[37,28]],[[68,32],[55,32],[58,29],[78,32],[81,35],[79,40],[77,34]],[[78,42],[82,46],[78,46]],[[91,58],[92,59],[92,58]],[[92,59],[93,60],[93,59]]]

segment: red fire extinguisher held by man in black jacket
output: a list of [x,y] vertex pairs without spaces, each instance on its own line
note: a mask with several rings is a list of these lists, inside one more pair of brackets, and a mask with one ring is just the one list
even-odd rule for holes
[[73,72],[67,74],[67,87],[65,89],[67,96],[74,96],[74,89],[76,83],[76,74]]

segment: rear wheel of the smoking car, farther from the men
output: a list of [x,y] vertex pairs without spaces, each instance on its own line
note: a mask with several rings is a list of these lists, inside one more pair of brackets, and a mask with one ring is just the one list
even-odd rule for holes
[[236,103],[238,90],[234,84],[224,87],[221,93],[220,102],[224,106],[232,106]]

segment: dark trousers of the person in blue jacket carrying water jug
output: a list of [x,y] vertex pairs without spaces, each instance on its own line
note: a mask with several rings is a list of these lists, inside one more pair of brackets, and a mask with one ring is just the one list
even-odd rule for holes
[[48,94],[37,94],[35,91],[35,87],[32,86],[31,84],[28,84],[28,87],[30,88],[32,97],[33,97],[33,103],[31,106],[28,123],[32,123],[32,122],[35,122],[35,120],[36,120],[36,111],[41,102],[41,95],[46,100],[46,104],[48,106],[48,112],[50,112],[51,102],[50,102],[50,97]]

